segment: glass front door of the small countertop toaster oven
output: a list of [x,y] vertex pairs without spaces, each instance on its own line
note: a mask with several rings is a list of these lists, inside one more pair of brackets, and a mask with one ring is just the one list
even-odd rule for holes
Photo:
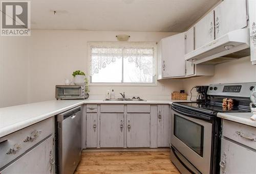
[[81,86],[56,86],[57,98],[79,98]]

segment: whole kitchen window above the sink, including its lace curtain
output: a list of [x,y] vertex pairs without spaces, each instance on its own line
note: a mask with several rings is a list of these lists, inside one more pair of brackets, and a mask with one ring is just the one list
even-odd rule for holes
[[91,85],[156,85],[156,43],[90,42]]

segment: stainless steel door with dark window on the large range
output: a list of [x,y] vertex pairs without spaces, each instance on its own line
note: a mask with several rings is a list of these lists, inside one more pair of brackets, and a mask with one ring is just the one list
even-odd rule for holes
[[[201,173],[210,173],[212,123],[199,117],[172,108],[170,142]],[[185,165],[187,161],[181,163]]]

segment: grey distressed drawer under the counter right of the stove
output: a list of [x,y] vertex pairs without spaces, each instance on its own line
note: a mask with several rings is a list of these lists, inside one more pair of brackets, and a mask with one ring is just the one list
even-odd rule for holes
[[256,128],[223,119],[223,136],[256,150]]

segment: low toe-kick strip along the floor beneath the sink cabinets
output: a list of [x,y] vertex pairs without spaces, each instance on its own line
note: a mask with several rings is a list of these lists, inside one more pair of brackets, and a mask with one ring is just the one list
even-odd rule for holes
[[86,148],[82,152],[138,152],[138,151],[169,151],[169,147],[160,148]]

